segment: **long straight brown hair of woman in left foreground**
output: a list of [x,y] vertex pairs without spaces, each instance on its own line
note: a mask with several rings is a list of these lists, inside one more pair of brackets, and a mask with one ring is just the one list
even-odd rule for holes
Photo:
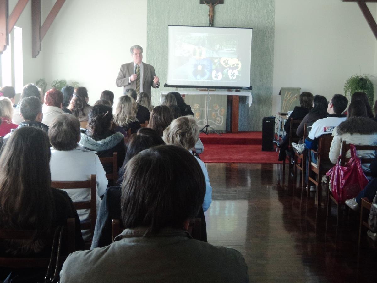
[[[1,228],[37,230],[36,238],[50,229],[55,217],[50,157],[49,138],[41,129],[19,128],[10,136],[0,155]],[[38,252],[40,246],[18,249]]]

